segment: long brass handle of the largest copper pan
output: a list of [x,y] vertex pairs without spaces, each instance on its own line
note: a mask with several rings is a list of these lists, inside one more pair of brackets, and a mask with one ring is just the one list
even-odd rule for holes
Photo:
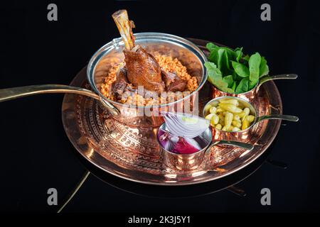
[[48,94],[48,93],[72,93],[90,96],[93,99],[97,99],[110,111],[110,114],[117,116],[119,110],[115,108],[109,101],[102,99],[95,92],[83,89],[81,87],[72,87],[62,84],[43,84],[43,85],[31,85],[25,87],[12,87],[7,89],[0,89],[0,102],[9,101],[11,99],[18,99],[25,96],[31,96],[35,94]]

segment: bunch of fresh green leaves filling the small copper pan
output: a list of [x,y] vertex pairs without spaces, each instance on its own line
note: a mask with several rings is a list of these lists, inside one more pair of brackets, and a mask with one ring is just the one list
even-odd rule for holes
[[267,60],[258,52],[244,55],[242,48],[232,50],[214,43],[207,43],[206,48],[210,51],[205,64],[208,81],[223,92],[248,92],[260,77],[269,74]]

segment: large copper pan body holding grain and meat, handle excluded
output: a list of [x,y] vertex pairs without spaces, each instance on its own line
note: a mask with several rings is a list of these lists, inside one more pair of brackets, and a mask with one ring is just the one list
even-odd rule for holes
[[102,102],[107,102],[119,111],[112,117],[128,126],[157,127],[164,122],[159,111],[192,112],[198,114],[198,91],[203,87],[207,79],[206,56],[190,41],[176,35],[165,33],[137,33],[135,43],[142,45],[151,54],[170,55],[176,57],[188,72],[198,79],[198,88],[195,92],[184,96],[182,99],[159,106],[135,106],[121,104],[117,101],[107,99],[101,92],[100,87],[106,74],[114,63],[124,60],[122,50],[124,43],[122,38],[116,38],[112,42],[102,46],[87,66],[87,80],[96,94],[102,98]]

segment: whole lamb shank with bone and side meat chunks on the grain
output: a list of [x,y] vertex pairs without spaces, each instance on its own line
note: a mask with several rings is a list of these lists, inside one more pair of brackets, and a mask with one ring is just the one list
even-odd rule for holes
[[[132,91],[134,87],[143,86],[146,92],[183,91],[186,87],[180,77],[173,73],[161,72],[161,67],[154,56],[146,52],[140,45],[134,44],[132,28],[134,22],[129,21],[126,10],[119,10],[112,14],[112,18],[117,25],[125,50],[123,68],[119,69],[116,81],[112,84],[112,93],[119,98],[124,92]],[[166,84],[164,83],[166,82]]]

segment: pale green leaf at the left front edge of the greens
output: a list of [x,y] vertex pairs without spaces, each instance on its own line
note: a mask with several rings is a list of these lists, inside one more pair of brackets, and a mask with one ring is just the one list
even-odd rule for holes
[[223,81],[222,73],[213,62],[206,62],[208,70],[208,81],[223,92],[234,93],[233,89],[228,88],[228,83]]

